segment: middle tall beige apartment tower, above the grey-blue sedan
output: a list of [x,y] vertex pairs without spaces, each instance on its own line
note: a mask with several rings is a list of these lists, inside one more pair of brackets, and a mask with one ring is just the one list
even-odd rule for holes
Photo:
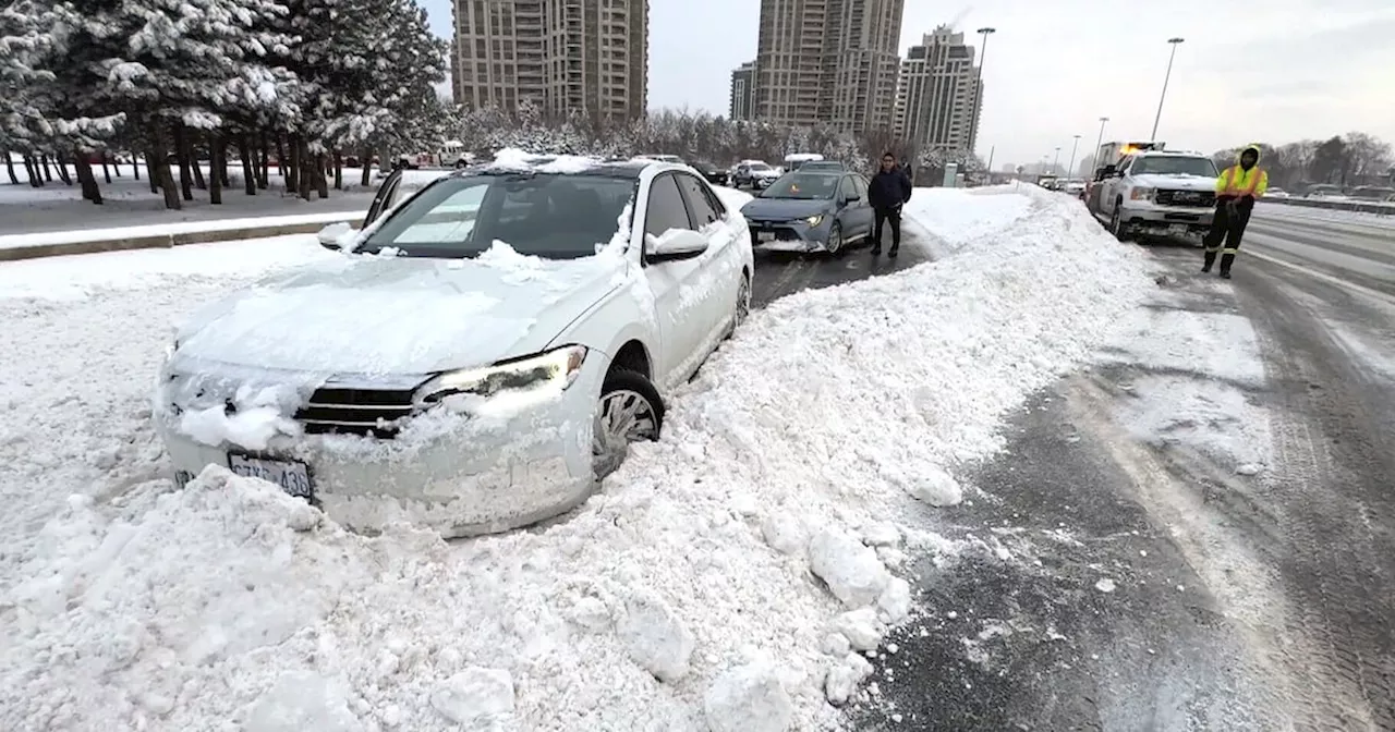
[[760,0],[756,117],[891,128],[905,0]]

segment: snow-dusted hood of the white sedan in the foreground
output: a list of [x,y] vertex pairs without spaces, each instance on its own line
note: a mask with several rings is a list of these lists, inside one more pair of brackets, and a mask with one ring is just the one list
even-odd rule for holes
[[319,374],[430,374],[547,347],[625,282],[618,254],[544,261],[346,255],[213,303],[176,335],[176,361]]

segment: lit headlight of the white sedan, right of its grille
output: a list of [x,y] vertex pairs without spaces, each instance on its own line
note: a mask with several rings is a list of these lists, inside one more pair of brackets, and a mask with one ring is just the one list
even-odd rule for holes
[[585,346],[562,346],[551,351],[483,368],[446,371],[417,389],[413,402],[431,407],[456,395],[488,399],[501,392],[547,389],[561,392],[576,381],[586,360]]

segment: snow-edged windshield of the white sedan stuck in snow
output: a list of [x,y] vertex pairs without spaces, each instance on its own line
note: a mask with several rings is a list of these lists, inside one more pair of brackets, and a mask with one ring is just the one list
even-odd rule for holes
[[635,180],[598,173],[506,173],[448,177],[425,187],[359,251],[459,258],[495,240],[523,255],[576,259],[615,236]]

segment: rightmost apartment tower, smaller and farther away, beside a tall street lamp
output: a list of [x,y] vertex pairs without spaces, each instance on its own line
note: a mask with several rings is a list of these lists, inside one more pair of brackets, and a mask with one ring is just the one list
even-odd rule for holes
[[983,103],[974,47],[939,26],[911,46],[896,91],[896,134],[921,148],[974,149],[974,110]]

